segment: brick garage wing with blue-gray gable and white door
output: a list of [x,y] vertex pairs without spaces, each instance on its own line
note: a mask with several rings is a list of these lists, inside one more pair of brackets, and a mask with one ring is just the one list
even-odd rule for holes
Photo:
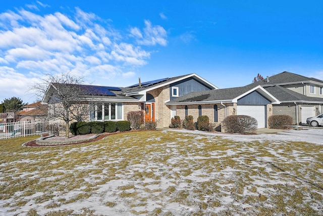
[[196,121],[206,115],[210,122],[220,125],[229,115],[249,115],[257,120],[258,128],[268,126],[274,104],[280,101],[260,85],[192,92],[166,103],[181,119],[192,115]]

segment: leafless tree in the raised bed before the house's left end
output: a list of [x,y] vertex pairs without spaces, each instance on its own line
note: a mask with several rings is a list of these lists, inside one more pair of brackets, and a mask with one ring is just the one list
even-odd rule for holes
[[86,119],[89,112],[88,100],[92,91],[83,84],[83,77],[68,73],[60,75],[47,74],[40,83],[31,87],[35,94],[48,103],[48,117],[65,121],[65,137],[69,138],[71,121]]

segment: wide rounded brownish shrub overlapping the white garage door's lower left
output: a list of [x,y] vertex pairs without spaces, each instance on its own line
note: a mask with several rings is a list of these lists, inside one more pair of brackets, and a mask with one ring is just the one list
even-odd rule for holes
[[248,115],[230,115],[222,123],[230,134],[252,133],[258,127],[257,120]]

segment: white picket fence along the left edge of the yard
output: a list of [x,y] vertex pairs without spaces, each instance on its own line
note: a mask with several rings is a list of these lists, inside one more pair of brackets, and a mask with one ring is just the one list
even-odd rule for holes
[[42,134],[58,134],[60,125],[60,120],[0,123],[0,140]]

